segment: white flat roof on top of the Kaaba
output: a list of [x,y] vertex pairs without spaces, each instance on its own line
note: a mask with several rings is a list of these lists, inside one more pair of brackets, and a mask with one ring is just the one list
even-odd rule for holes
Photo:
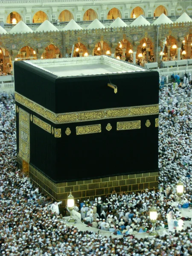
[[110,56],[38,59],[24,61],[58,77],[89,76],[148,71]]

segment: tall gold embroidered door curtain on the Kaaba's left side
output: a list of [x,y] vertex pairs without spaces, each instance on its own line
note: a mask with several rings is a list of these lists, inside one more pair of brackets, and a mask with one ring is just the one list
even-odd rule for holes
[[30,115],[19,108],[19,157],[30,161]]

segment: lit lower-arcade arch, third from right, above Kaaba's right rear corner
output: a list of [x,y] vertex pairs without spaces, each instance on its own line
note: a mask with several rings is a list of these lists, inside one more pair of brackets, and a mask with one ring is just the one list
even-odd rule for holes
[[148,61],[152,56],[154,56],[154,40],[151,37],[141,38],[136,53],[136,58],[140,61],[140,65],[143,66],[145,61]]

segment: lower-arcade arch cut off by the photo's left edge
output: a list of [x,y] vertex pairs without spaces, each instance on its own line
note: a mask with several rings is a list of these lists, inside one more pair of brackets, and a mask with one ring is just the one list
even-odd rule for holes
[[11,52],[7,47],[0,45],[0,72],[1,73],[11,73],[12,72],[12,58]]

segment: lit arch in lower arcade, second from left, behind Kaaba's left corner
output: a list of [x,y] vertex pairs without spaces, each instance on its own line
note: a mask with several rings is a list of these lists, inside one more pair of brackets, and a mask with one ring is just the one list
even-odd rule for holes
[[15,61],[37,59],[37,51],[35,48],[25,45],[21,47],[15,58]]

